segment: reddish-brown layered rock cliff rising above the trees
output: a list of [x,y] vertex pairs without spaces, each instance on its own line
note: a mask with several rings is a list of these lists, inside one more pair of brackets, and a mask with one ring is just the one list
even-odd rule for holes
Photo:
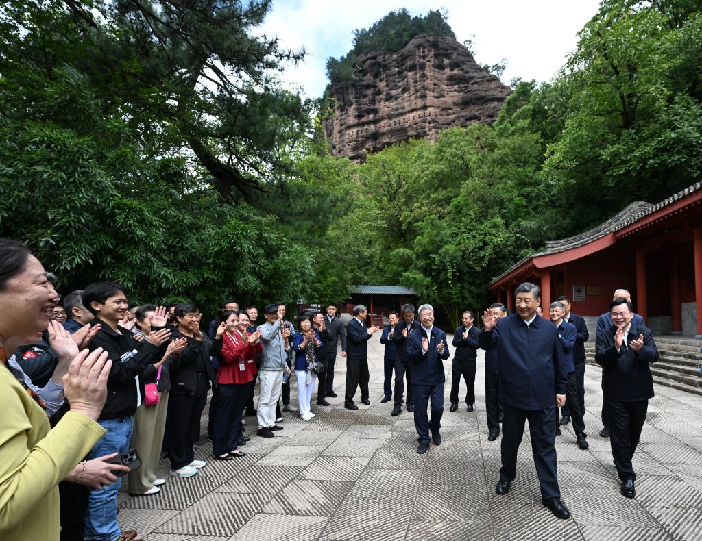
[[325,124],[331,154],[355,161],[411,137],[492,122],[510,93],[450,37],[419,34],[398,53],[357,64],[362,81],[330,86],[334,114]]

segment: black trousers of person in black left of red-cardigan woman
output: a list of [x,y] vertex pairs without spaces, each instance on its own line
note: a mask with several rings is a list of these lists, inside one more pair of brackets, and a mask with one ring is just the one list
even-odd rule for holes
[[171,455],[171,469],[180,469],[194,460],[192,446],[200,432],[207,387],[207,380],[197,380],[195,394],[171,392],[168,398],[168,454]]

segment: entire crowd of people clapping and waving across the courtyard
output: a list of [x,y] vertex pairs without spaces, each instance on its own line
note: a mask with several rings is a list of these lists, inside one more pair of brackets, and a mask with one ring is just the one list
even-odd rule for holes
[[[262,307],[260,322],[257,307],[241,309],[234,300],[225,300],[218,317],[204,328],[197,306],[130,306],[125,289],[112,281],[90,284],[63,299],[54,286],[55,277],[23,244],[0,239],[0,361],[6,368],[0,367],[3,539],[136,540],[137,532],[122,531],[117,523],[122,475],[128,475],[130,493],[148,496],[168,489],[167,479],[157,476],[161,457],[168,457],[174,477],[187,479],[206,467],[205,460],[195,459],[194,450],[210,391],[206,435],[212,440],[211,460],[228,462],[246,455],[242,447],[254,435],[246,435],[246,417],[256,417],[255,434],[261,438],[284,429],[279,424],[283,410],[312,420],[315,386],[319,406],[329,406],[326,397],[337,396],[333,373],[338,343],[346,357],[344,407],[358,409],[354,398],[359,389],[362,403],[370,404],[367,344],[381,329],[366,324],[362,305],[346,325],[330,304],[325,312],[299,316],[293,326],[283,303]],[[568,518],[557,486],[554,438],[559,433],[558,407],[568,402],[564,418],[572,418],[578,446],[588,447],[581,396],[584,365],[578,366],[585,361],[583,336],[578,336],[578,318],[569,312],[567,298],[550,305],[549,318],[543,320],[536,313],[539,301],[538,288],[522,284],[515,291],[516,313],[510,315],[496,303],[484,312],[482,330],[473,326],[471,310],[463,313],[451,341],[450,409],[458,409],[464,378],[465,402],[472,411],[476,352],[485,349],[488,439],[496,440],[501,427],[503,432],[496,491],[507,493],[515,478],[517,448],[528,420],[544,505],[559,518]],[[632,497],[631,457],[638,436],[627,431],[636,425],[640,434],[643,402],[652,396],[652,385],[650,373],[647,379],[643,369],[634,370],[641,392],[614,396],[621,392],[616,380],[621,374],[611,366],[628,354],[627,333],[632,333],[628,343],[633,359],[644,352],[648,363],[658,354],[650,331],[644,333],[642,323],[630,326],[636,315],[630,298],[616,297],[610,308],[607,340],[612,343],[600,347],[598,338],[597,362],[610,367],[603,378],[606,403],[605,386],[614,390],[609,391],[609,415],[603,408],[602,418],[614,430],[612,448],[623,493]],[[417,312],[404,305],[402,317],[391,312],[380,335],[385,345],[381,402],[390,401],[394,391],[393,416],[406,403],[418,432],[418,453],[442,443],[443,361],[450,352],[446,334],[433,323],[430,305]],[[527,335],[531,338],[525,342]],[[574,358],[578,340],[582,355]],[[525,355],[532,360],[525,363]],[[630,376],[632,368],[625,370]],[[293,372],[297,407],[290,397]],[[622,410],[614,413],[615,406]]]

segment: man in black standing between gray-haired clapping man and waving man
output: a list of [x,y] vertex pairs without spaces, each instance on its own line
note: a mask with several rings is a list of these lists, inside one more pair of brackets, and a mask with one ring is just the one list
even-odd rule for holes
[[468,411],[475,403],[475,362],[478,354],[478,335],[480,331],[473,325],[475,314],[466,310],[461,316],[460,327],[453,332],[453,366],[451,366],[451,411],[458,409],[458,389],[461,388],[461,375],[465,380],[465,403]]

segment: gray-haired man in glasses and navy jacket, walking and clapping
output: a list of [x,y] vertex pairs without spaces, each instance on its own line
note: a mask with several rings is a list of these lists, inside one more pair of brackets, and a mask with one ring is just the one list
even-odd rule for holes
[[[444,363],[449,358],[446,333],[434,326],[434,309],[431,305],[419,307],[421,326],[407,338],[407,356],[412,363],[414,395],[414,427],[419,434],[417,453],[427,452],[430,441],[441,445],[439,433],[441,418],[444,415]],[[431,399],[431,420],[427,416],[427,406]],[[432,433],[431,439],[429,432]]]

